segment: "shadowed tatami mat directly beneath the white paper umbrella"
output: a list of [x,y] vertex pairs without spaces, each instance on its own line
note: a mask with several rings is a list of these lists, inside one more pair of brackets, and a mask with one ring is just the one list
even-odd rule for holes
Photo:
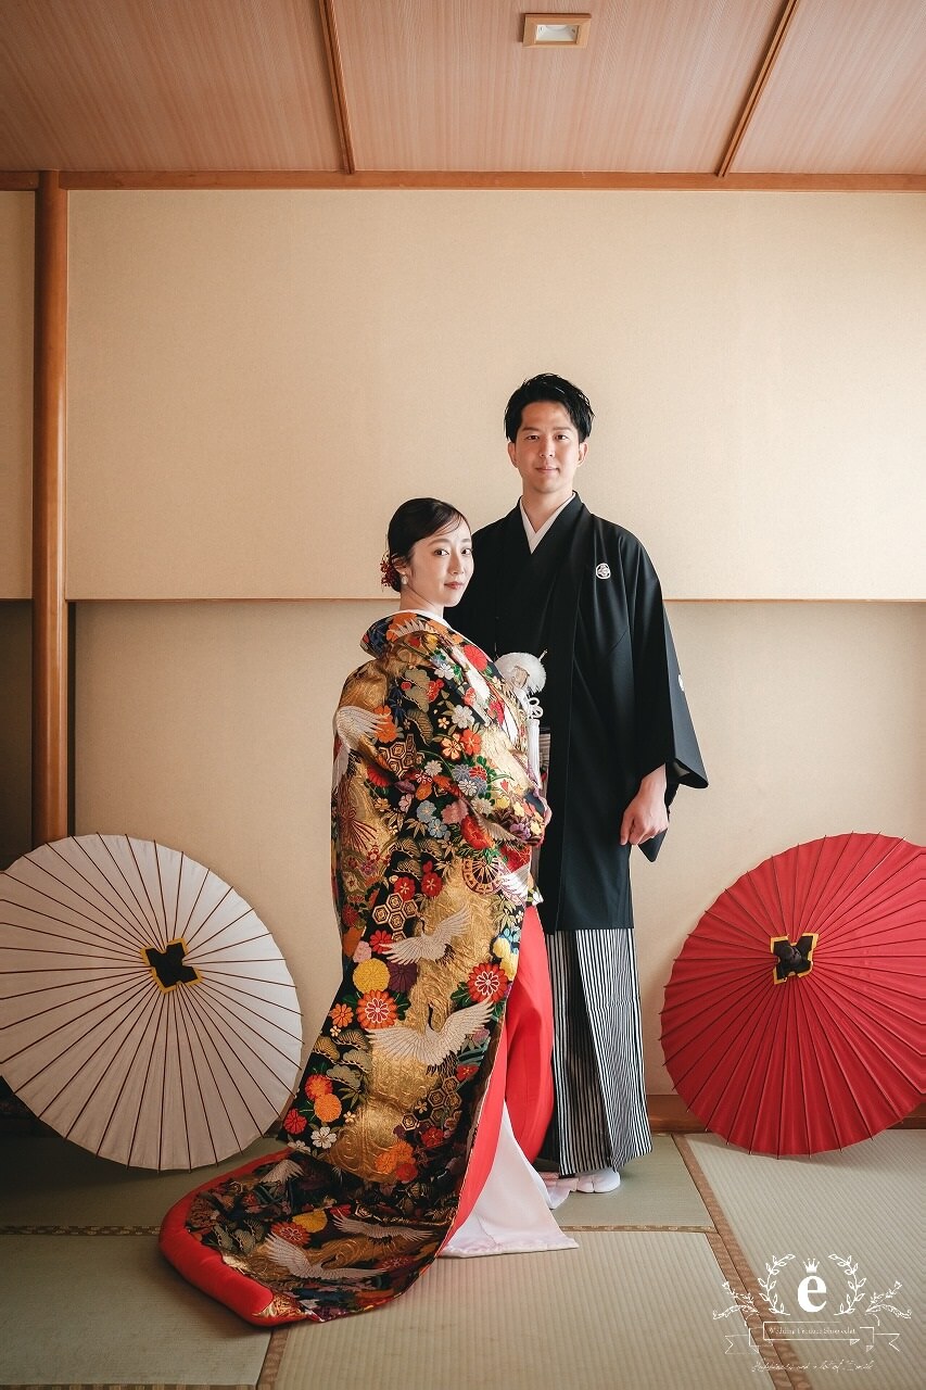
[[164,1212],[213,1173],[281,1150],[257,1140],[216,1168],[153,1173],[96,1158],[57,1136],[0,1143],[0,1226],[160,1226]]

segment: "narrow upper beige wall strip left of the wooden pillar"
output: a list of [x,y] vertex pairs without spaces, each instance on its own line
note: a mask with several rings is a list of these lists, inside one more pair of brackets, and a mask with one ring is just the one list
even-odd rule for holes
[[0,599],[32,594],[32,193],[0,193]]

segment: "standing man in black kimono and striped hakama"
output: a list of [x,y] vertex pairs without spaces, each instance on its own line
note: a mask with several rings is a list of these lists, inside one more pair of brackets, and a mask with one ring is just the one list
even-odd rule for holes
[[651,1150],[630,851],[655,859],[680,784],[706,787],[659,578],[640,541],[573,484],[594,411],[562,377],[505,411],[517,506],[473,537],[453,623],[489,656],[542,659],[541,749],[552,819],[538,869],[553,990],[555,1108],[542,1158],[612,1191]]

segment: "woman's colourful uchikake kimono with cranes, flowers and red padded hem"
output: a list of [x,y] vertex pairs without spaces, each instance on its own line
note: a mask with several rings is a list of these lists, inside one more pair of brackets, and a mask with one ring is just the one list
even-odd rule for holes
[[[527,903],[546,805],[516,694],[439,620],[381,619],[363,646],[335,714],[345,973],[284,1118],[291,1147],[189,1194],[161,1230],[185,1277],[263,1326],[375,1308],[432,1262],[478,1195],[467,1179],[460,1201],[526,910],[542,956]],[[516,1087],[541,1109],[521,1119],[531,1158],[548,1072],[549,1036]]]

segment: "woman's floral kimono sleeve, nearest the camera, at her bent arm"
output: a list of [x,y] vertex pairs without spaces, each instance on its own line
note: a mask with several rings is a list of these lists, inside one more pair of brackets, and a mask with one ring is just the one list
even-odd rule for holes
[[466,817],[492,821],[502,838],[537,845],[546,802],[526,756],[480,705],[466,667],[444,648],[396,644],[385,717],[363,752],[392,774],[396,809],[406,815],[446,827]]

